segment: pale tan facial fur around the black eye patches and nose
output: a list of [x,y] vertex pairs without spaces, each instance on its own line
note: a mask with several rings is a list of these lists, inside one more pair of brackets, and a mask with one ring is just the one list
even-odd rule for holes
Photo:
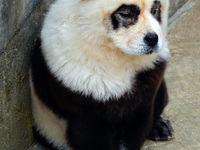
[[[144,37],[147,33],[156,33],[159,36],[158,50],[162,50],[164,42],[166,41],[166,9],[163,10],[163,24],[159,23],[154,16],[150,13],[153,5],[153,0],[132,1],[131,5],[136,5],[140,9],[140,15],[134,25],[127,28],[120,27],[113,29],[110,15],[106,14],[104,18],[104,26],[108,30],[108,35],[112,39],[114,46],[129,55],[143,55],[146,49]],[[123,4],[129,5],[128,2]],[[165,4],[166,5],[166,4]]]

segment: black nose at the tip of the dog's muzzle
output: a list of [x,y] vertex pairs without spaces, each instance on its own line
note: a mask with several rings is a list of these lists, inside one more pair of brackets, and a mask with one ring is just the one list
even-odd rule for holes
[[144,42],[153,48],[158,44],[158,35],[156,33],[147,33],[144,37]]

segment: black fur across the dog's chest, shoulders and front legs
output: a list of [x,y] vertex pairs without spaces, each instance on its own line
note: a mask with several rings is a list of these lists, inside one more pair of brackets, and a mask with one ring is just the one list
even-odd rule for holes
[[68,120],[66,139],[74,150],[119,150],[121,144],[139,150],[168,101],[165,68],[164,60],[156,62],[154,69],[137,73],[132,93],[97,102],[53,77],[39,41],[31,64],[35,91],[55,114]]

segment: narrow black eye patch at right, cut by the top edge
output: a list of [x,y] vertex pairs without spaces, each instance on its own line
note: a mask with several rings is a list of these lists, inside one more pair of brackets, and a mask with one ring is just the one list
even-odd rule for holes
[[161,8],[162,8],[162,5],[161,5],[160,1],[157,1],[157,0],[155,0],[153,2],[153,5],[151,7],[151,14],[156,18],[156,20],[158,20],[159,23],[162,22],[162,19],[161,19],[162,11],[161,11]]

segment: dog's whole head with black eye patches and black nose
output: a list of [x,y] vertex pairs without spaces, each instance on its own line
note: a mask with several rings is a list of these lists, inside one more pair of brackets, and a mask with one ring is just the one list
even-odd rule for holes
[[[163,46],[168,5],[168,0],[82,0],[82,14],[103,24],[113,46],[129,55],[144,55]],[[98,25],[94,30],[99,34]]]

